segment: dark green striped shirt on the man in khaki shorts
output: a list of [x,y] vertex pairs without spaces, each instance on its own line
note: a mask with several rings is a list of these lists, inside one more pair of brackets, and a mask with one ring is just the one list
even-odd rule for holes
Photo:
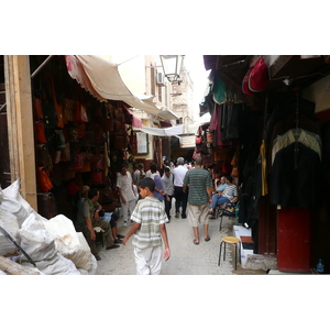
[[209,202],[207,188],[212,187],[212,180],[208,170],[200,167],[189,169],[184,178],[184,185],[189,186],[188,202],[190,205]]

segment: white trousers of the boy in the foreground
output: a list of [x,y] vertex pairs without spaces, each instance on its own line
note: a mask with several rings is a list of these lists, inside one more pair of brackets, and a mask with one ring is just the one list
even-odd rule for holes
[[160,275],[162,271],[162,245],[139,249],[134,246],[136,275]]

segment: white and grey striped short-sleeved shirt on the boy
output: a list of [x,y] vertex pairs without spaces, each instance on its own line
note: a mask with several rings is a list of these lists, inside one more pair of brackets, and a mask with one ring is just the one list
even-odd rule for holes
[[168,222],[164,204],[157,198],[145,197],[140,199],[131,216],[131,220],[141,223],[135,232],[132,244],[139,249],[162,245],[160,226]]

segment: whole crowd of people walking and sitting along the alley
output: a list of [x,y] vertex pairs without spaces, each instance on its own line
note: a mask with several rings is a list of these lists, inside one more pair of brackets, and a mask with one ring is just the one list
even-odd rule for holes
[[[199,244],[199,224],[204,228],[204,239],[210,241],[209,219],[216,218],[216,208],[238,200],[238,189],[232,178],[221,177],[211,180],[211,175],[204,167],[202,157],[187,163],[183,157],[176,162],[164,161],[161,168],[151,164],[145,173],[143,166],[134,166],[133,173],[125,164],[117,175],[117,189],[121,204],[123,227],[132,226],[127,235],[117,232],[117,212],[108,213],[98,202],[99,191],[82,186],[77,204],[76,230],[81,231],[91,253],[99,261],[96,248],[98,227],[103,232],[106,250],[125,245],[131,235],[136,274],[161,274],[162,254],[170,256],[165,223],[170,222],[170,209],[175,199],[175,218],[186,219],[193,228],[195,245]],[[164,252],[163,251],[164,243]]]

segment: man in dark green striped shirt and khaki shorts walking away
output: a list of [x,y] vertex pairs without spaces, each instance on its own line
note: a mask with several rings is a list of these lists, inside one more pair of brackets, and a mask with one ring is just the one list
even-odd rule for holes
[[208,170],[202,168],[202,157],[196,158],[195,168],[189,169],[184,178],[183,190],[188,194],[188,219],[195,234],[194,244],[199,244],[198,224],[204,224],[204,239],[210,240],[209,229],[209,202],[212,200],[212,180]]

